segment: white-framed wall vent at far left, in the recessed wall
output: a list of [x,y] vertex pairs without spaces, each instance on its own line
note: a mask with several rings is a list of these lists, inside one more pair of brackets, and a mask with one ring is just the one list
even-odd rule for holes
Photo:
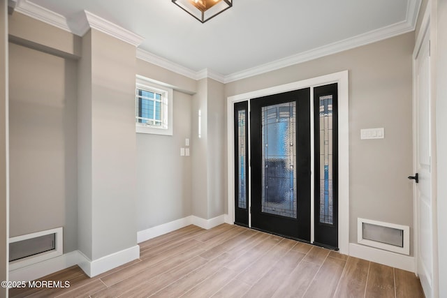
[[9,239],[11,271],[62,255],[63,229],[56,228]]

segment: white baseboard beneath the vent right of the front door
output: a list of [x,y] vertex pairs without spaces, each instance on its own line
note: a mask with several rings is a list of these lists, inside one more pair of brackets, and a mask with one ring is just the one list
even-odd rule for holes
[[350,243],[349,255],[351,255],[351,257],[376,262],[406,271],[415,272],[416,270],[413,257],[401,255],[400,253],[393,253],[391,251],[383,251],[379,248]]

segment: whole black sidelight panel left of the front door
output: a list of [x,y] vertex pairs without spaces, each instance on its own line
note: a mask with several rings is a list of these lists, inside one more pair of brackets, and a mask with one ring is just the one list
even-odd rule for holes
[[248,101],[235,103],[235,223],[249,225]]

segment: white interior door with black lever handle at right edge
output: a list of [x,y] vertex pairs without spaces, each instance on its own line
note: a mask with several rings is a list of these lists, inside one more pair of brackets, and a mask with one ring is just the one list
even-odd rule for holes
[[431,127],[430,127],[430,33],[427,31],[415,61],[415,188],[418,227],[418,275],[426,297],[433,297],[433,204],[431,191]]

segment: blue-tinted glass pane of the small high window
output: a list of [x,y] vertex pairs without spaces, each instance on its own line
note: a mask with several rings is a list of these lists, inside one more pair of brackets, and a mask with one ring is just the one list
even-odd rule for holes
[[136,89],[136,121],[149,126],[163,126],[163,96],[154,91]]

